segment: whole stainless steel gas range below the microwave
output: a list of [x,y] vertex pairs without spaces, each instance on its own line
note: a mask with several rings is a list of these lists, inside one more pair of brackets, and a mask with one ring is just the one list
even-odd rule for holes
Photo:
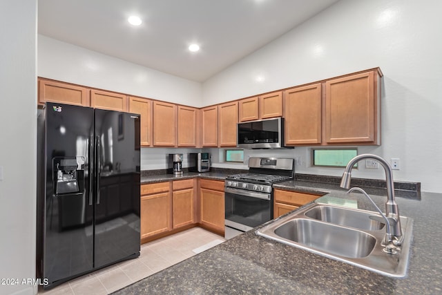
[[272,184],[294,177],[294,159],[250,158],[249,172],[229,175],[225,182],[225,238],[273,219]]

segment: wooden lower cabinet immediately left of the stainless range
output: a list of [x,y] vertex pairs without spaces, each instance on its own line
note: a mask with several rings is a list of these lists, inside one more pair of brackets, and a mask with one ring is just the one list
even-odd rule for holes
[[224,236],[224,182],[200,180],[200,224]]

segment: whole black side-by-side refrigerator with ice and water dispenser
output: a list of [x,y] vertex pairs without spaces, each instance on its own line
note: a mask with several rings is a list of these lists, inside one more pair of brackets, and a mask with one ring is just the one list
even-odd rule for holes
[[44,289],[140,256],[140,115],[46,103],[37,129]]

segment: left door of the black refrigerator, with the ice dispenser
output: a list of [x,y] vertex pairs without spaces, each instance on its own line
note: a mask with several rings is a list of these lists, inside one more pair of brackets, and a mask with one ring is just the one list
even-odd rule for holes
[[[93,108],[47,103],[37,193],[37,256],[42,277],[60,283],[93,269],[93,199],[90,194],[90,138]],[[41,138],[40,138],[41,137]],[[43,158],[43,159],[41,159]]]

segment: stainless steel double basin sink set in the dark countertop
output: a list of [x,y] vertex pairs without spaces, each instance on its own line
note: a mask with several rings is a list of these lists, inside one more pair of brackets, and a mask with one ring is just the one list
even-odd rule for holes
[[256,234],[385,276],[407,272],[412,219],[401,216],[403,245],[398,254],[382,251],[385,224],[376,212],[312,203],[256,231]]

